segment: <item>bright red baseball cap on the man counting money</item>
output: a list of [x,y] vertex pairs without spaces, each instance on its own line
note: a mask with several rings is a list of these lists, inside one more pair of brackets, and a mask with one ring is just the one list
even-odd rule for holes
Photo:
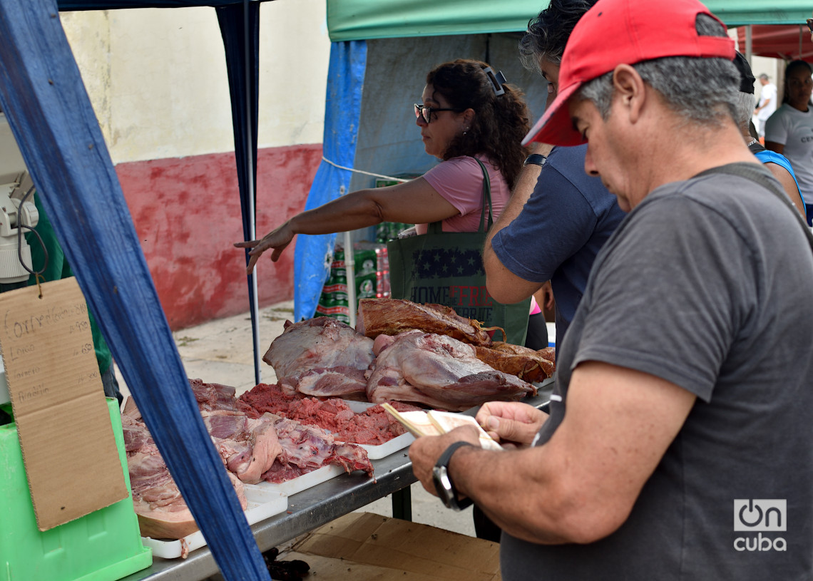
[[720,22],[698,0],[599,0],[573,28],[559,68],[559,93],[522,145],[585,143],[573,128],[567,100],[620,64],[674,56],[733,60],[733,39],[698,35],[698,14]]

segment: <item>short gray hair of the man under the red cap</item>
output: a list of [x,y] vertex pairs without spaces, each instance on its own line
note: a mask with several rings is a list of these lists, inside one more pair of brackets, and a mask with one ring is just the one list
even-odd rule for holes
[[[697,29],[704,36],[726,35],[720,23],[706,15],[698,15]],[[732,61],[681,56],[643,61],[633,67],[689,123],[720,125],[725,116],[737,119],[740,73]],[[578,93],[579,98],[593,102],[603,119],[610,115],[612,77],[612,72],[599,76]]]

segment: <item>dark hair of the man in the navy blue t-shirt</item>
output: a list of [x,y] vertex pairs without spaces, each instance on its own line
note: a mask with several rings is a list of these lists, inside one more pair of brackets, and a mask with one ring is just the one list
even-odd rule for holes
[[579,19],[598,0],[551,0],[536,18],[528,20],[528,31],[520,39],[520,60],[529,71],[539,71],[539,59],[562,62],[567,39]]

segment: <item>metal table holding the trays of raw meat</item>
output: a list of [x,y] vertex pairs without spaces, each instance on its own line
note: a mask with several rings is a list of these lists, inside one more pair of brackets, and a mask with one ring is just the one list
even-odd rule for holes
[[[525,401],[539,408],[546,406],[553,384],[543,386],[536,397]],[[475,412],[476,408],[473,408],[464,413],[473,415]],[[260,551],[265,552],[393,493],[393,516],[398,517],[400,512],[402,518],[410,519],[409,486],[417,479],[412,474],[407,450],[372,460],[375,479],[357,470],[289,496],[287,512],[252,525]],[[152,566],[121,581],[198,581],[219,571],[209,548],[202,547],[189,553],[185,559],[155,557]]]

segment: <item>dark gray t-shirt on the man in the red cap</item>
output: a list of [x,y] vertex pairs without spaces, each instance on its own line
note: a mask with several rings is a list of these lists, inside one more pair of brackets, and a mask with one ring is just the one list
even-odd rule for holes
[[618,531],[559,546],[503,534],[502,579],[811,579],[813,253],[783,206],[714,174],[654,190],[621,223],[557,358],[563,403],[540,444],[580,362],[698,400]]

